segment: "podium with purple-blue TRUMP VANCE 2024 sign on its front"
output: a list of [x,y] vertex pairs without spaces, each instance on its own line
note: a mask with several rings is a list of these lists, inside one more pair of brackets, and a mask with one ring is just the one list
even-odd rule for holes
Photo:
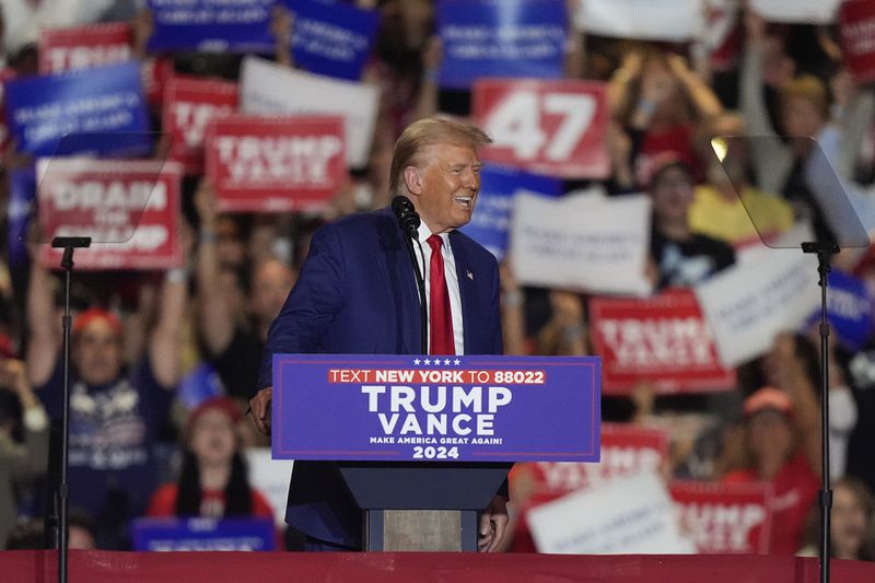
[[513,462],[598,460],[599,378],[595,357],[276,354],[272,453],[337,464],[364,550],[477,551]]

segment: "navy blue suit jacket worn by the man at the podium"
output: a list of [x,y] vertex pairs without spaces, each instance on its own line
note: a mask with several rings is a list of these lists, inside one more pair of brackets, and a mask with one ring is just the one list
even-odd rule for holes
[[[259,387],[271,386],[275,353],[418,354],[419,294],[412,263],[390,209],[319,229],[270,327]],[[453,231],[466,354],[501,354],[495,258]],[[331,428],[326,427],[326,432]],[[361,511],[330,462],[295,462],[287,522],[312,537],[361,544]]]

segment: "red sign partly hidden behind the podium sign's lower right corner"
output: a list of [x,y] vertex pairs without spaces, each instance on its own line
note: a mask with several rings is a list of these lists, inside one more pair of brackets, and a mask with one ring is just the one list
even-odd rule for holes
[[603,423],[599,463],[517,464],[511,473],[511,481],[528,480],[536,492],[556,497],[642,471],[658,473],[667,460],[666,431],[628,423]]

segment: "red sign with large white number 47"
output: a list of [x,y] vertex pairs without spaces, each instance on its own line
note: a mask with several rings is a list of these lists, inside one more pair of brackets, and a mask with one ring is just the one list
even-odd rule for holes
[[606,178],[608,106],[593,81],[483,79],[472,113],[492,143],[483,160],[563,178]]

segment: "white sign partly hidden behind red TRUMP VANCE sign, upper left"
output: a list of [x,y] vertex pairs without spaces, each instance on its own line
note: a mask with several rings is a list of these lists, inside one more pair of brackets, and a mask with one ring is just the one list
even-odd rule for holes
[[304,73],[256,57],[241,72],[241,110],[246,114],[336,114],[343,117],[347,163],[368,164],[380,88]]

